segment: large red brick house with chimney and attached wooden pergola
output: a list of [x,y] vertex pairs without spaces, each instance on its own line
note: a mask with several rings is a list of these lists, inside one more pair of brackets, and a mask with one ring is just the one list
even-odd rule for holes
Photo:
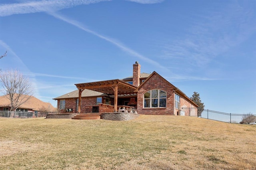
[[78,90],[54,100],[62,113],[118,112],[118,106],[125,105],[138,114],[178,115],[182,107],[198,107],[158,73],[140,73],[140,67],[136,61],[133,75],[125,79],[75,84]]

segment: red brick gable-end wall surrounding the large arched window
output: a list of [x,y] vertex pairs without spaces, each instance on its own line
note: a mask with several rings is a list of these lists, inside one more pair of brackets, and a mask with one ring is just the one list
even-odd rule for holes
[[[144,82],[138,90],[137,112],[145,115],[174,115],[174,86],[156,73]],[[161,89],[166,91],[166,108],[143,108],[143,95],[149,90]]]

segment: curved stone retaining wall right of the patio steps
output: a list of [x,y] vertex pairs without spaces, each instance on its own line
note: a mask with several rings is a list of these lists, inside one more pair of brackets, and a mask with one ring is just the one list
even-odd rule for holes
[[108,121],[130,121],[139,117],[134,113],[101,113],[100,119]]

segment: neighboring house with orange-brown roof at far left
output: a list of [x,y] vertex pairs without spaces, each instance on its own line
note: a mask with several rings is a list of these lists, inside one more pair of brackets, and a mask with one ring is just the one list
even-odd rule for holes
[[[18,107],[15,112],[16,115],[22,112],[30,112],[33,113],[33,117],[36,117],[37,113],[42,110],[48,112],[55,112],[56,108],[54,108],[50,103],[43,102],[32,96],[30,97],[30,99],[28,99],[26,103],[20,105],[20,107]],[[7,95],[0,96],[0,112],[1,111],[10,111],[10,100],[7,98]]]

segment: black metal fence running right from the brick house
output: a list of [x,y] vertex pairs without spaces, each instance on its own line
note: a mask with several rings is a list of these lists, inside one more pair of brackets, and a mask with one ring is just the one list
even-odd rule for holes
[[[223,113],[218,111],[211,111],[208,109],[202,110],[201,114],[195,114],[197,112],[196,108],[182,108],[182,111],[188,113],[186,115],[201,117],[204,119],[211,119],[214,121],[221,121],[226,123],[240,123],[240,124],[256,124],[256,115],[252,114],[232,114]],[[199,115],[199,116],[198,116]]]

